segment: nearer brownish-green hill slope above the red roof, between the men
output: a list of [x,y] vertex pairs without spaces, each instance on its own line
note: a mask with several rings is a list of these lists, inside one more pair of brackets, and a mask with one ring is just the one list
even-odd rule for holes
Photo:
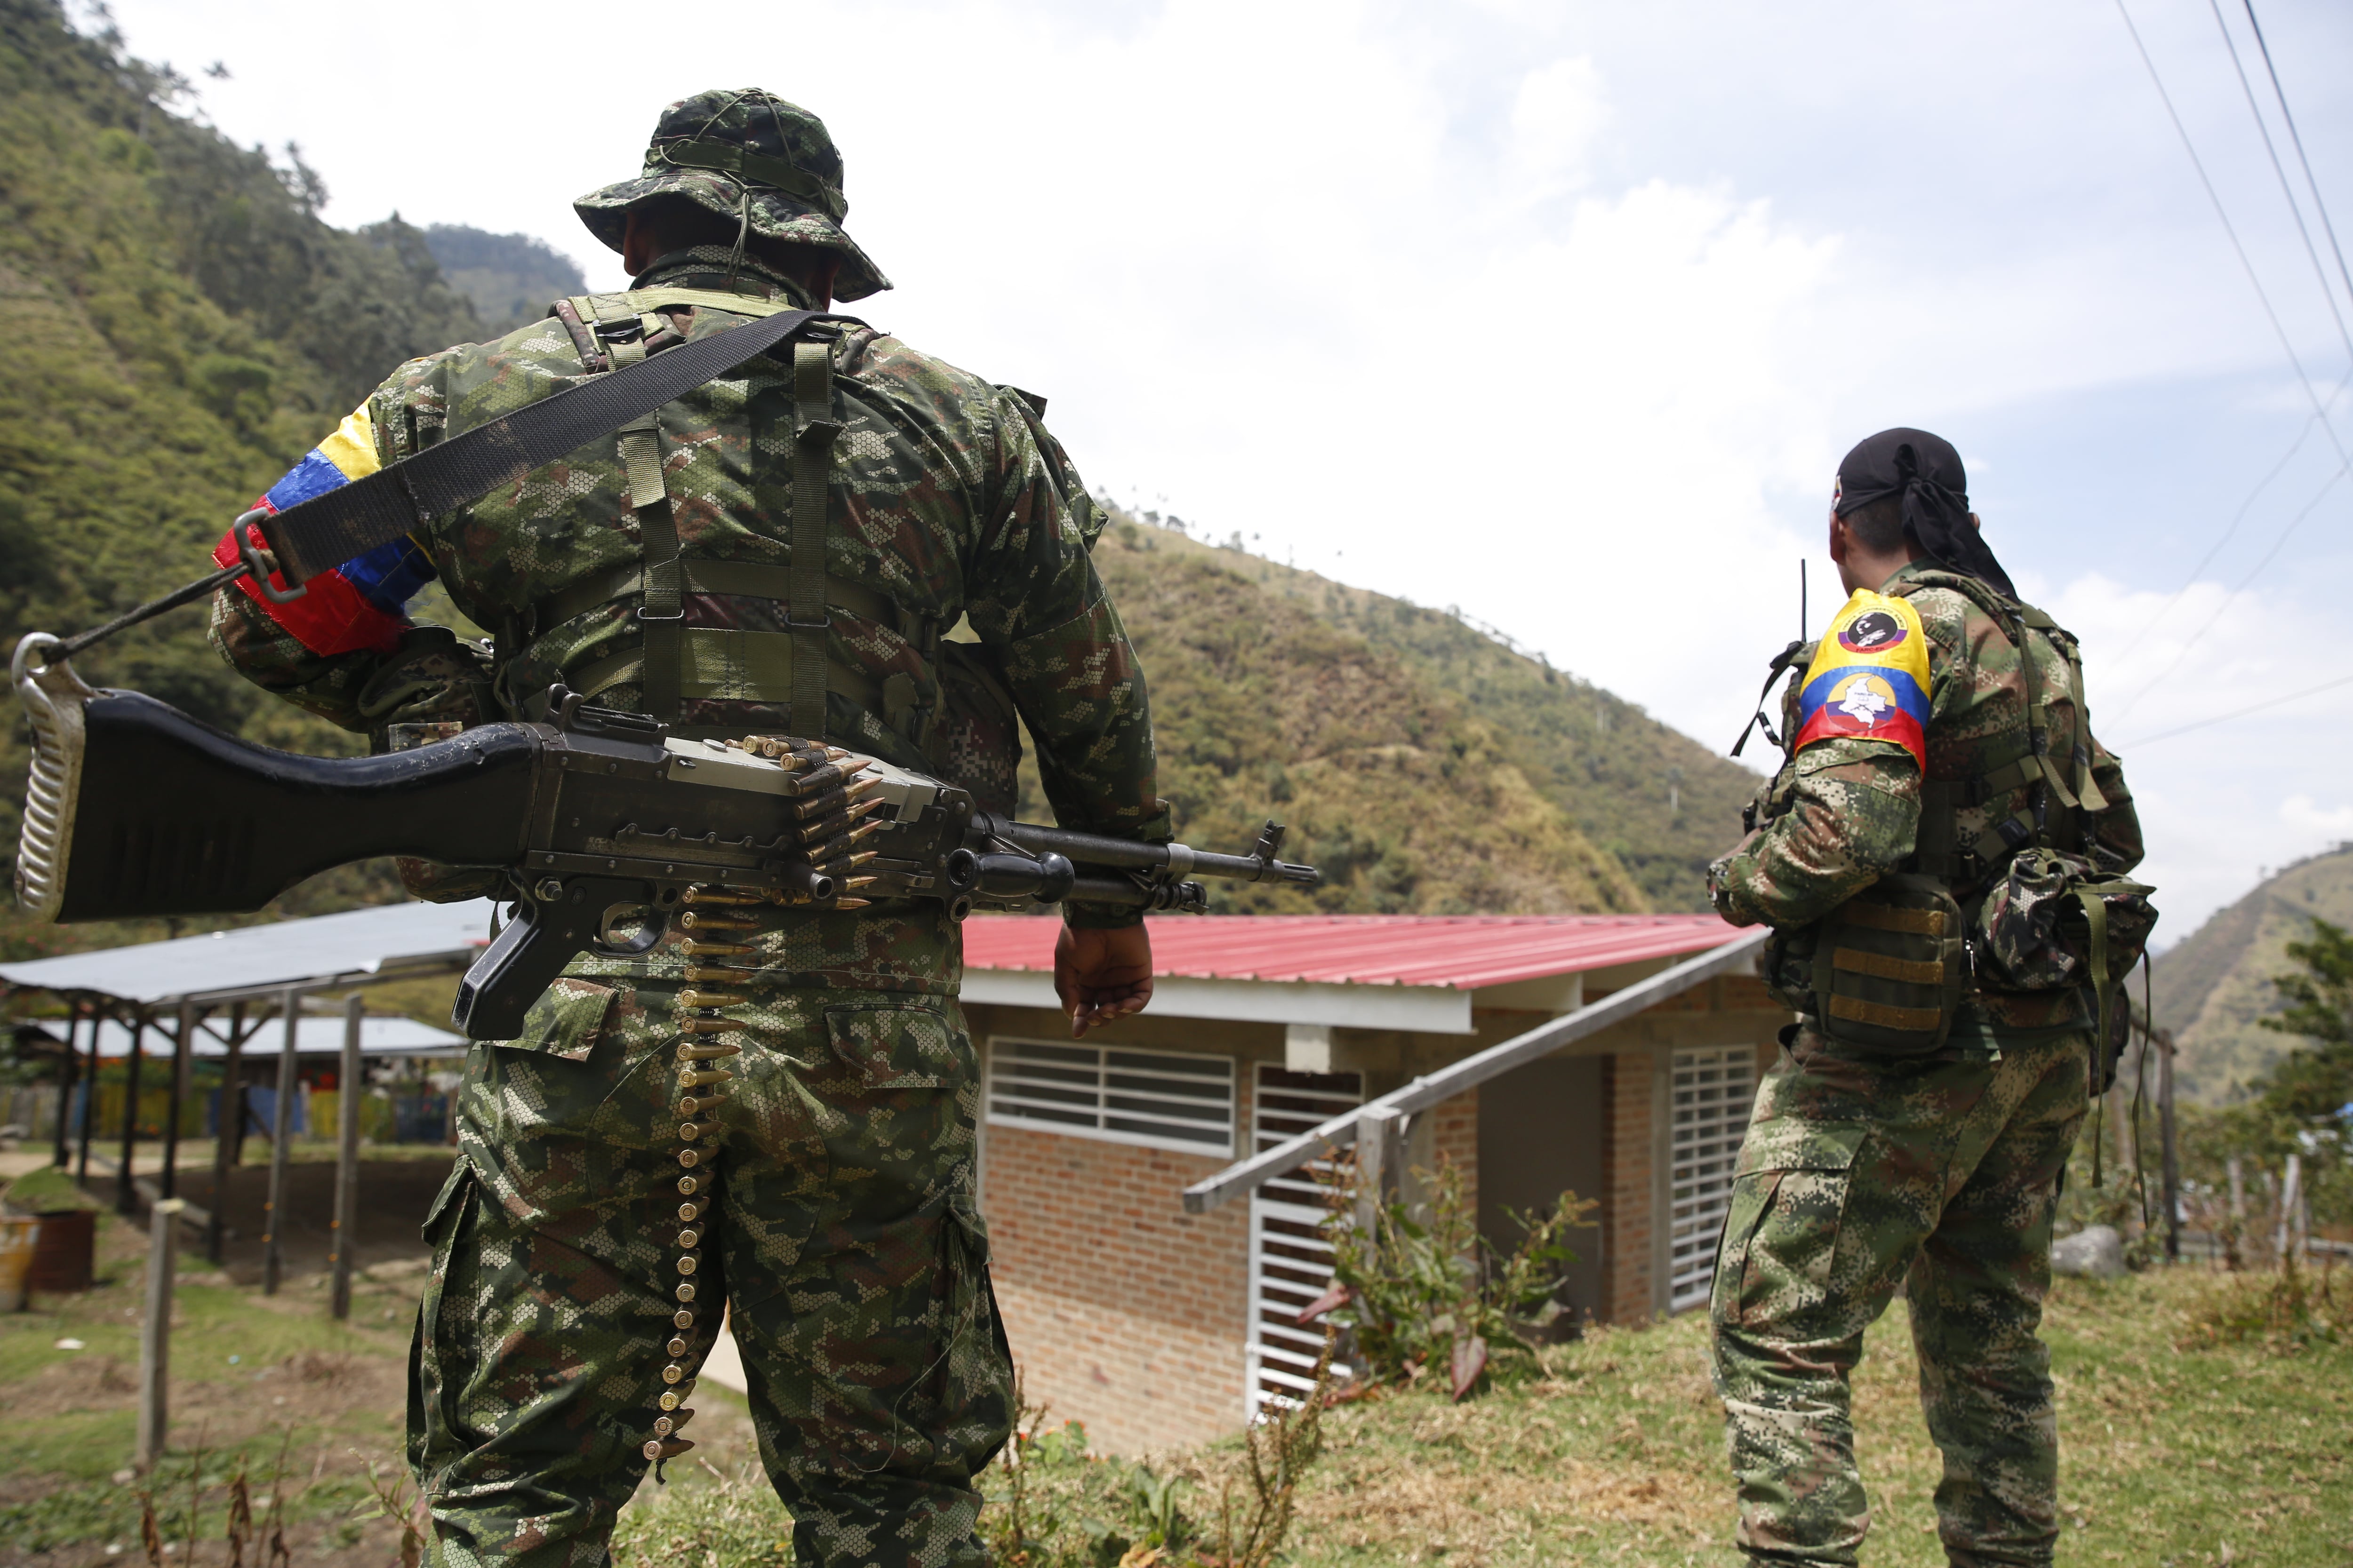
[[[1268,816],[1313,896],[1221,886],[1226,912],[1534,914],[1642,910],[1518,764],[1492,717],[1398,646],[1273,592],[1266,562],[1113,522],[1094,550],[1153,693],[1160,792],[1191,844],[1245,849]],[[1035,804],[1031,785],[1028,809]]]

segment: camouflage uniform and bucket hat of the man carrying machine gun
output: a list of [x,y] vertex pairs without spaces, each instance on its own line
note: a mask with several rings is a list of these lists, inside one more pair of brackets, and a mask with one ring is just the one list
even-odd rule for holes
[[[666,155],[729,146],[751,153],[744,183]],[[689,195],[748,209],[753,233],[833,247],[845,294],[887,287],[838,230],[838,181],[814,115],[701,94],[666,110],[645,179],[584,197],[581,214],[616,242],[631,200]],[[720,294],[635,313],[654,353],[666,334],[741,324],[734,296],[807,303],[727,249],[656,261],[635,280],[654,287]],[[400,367],[273,498],[339,482],[318,463],[355,477],[574,383],[614,341],[607,315],[633,310],[602,310],[593,341],[551,317]],[[993,665],[1038,741],[1056,816],[1165,837],[1144,675],[1087,559],[1104,512],[1038,400],[866,327],[842,331],[831,360],[842,435],[828,477],[828,736],[934,771],[941,649],[965,623],[976,642],[962,654]],[[692,574],[769,571],[713,578],[741,588],[788,562],[791,376],[779,353],[659,411],[689,649],[784,630],[776,597],[706,592]],[[224,590],[214,639],[261,686],[379,738],[536,717],[553,682],[595,682],[598,703],[645,710],[633,658],[647,510],[624,451],[584,447],[292,607]],[[409,625],[405,599],[431,578],[496,630],[494,654]],[[598,588],[614,581],[628,588]],[[786,693],[725,661],[706,675],[682,693],[687,733],[784,731]],[[442,891],[468,889],[442,875]],[[720,1302],[798,1561],[986,1561],[972,1476],[1012,1427],[1012,1368],[974,1211],[958,926],[936,903],[699,919],[645,957],[581,954],[520,1039],[468,1058],[409,1387],[433,1561],[605,1561],[614,1509],[652,1460],[687,1446],[673,1432]]]

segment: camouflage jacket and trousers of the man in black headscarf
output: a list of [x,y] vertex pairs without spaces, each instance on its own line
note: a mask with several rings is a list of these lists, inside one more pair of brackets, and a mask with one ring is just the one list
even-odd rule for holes
[[[1887,583],[1927,632],[1927,776],[1995,773],[2026,729],[2028,672],[2009,630],[1934,562]],[[2035,630],[2052,752],[2089,745],[2106,806],[2085,820],[2104,870],[2141,858],[2122,771],[2089,741],[2057,642]],[[1809,651],[1800,651],[1809,656]],[[1798,682],[1784,722],[1798,738]],[[1793,748],[1767,788],[1769,820],[1711,867],[1737,924],[1795,931],[1899,872],[1922,827],[1922,773],[1901,745],[1838,736]],[[2021,811],[2028,785],[1958,813],[1969,842]],[[1802,990],[1791,976],[1769,976]],[[1953,1563],[2049,1563],[2057,1420],[2035,1338],[2049,1288],[2059,1175],[2087,1112],[2092,1051],[2080,992],[1998,992],[1960,1004],[1944,1048],[1899,1060],[1831,1039],[1807,1016],[1784,1032],[1741,1145],[1715,1267],[1715,1389],[1741,1488],[1739,1544],[1755,1561],[1854,1563],[1868,1507],[1854,1467],[1847,1378],[1864,1328],[1906,1288],[1920,1403],[1944,1453],[1937,1519]]]

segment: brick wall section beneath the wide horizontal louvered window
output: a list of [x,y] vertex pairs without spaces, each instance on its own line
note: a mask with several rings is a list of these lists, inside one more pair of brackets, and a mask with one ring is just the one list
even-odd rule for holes
[[981,1211],[998,1305],[1049,1425],[1085,1422],[1111,1453],[1240,1427],[1249,1204],[1188,1215],[1179,1201],[1226,1164],[988,1128]]

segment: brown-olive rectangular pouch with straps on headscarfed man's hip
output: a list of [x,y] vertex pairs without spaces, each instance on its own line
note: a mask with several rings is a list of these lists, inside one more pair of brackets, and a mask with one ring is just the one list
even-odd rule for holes
[[1944,882],[1880,877],[1814,933],[1812,1006],[1821,1032],[1878,1056],[1927,1056],[1969,992],[1960,905]]

